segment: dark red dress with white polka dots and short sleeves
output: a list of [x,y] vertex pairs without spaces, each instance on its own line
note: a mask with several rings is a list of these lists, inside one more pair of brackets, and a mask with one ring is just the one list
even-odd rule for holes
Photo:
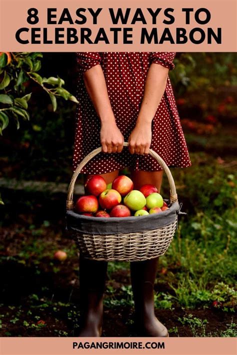
[[[135,126],[143,97],[146,75],[151,63],[173,69],[175,52],[76,52],[79,69],[73,169],[91,150],[100,146],[100,120],[85,89],[83,73],[100,64],[116,124],[127,141]],[[183,136],[169,78],[152,120],[150,148],[170,167],[187,167],[190,159]],[[134,170],[158,171],[161,166],[150,155],[99,153],[81,170],[105,173],[129,167]]]

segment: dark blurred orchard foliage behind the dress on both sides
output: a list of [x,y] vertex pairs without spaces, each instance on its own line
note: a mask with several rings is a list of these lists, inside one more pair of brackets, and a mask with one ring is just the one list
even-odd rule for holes
[[[74,53],[44,53],[41,63],[41,77],[59,76],[66,89],[76,94]],[[170,78],[189,150],[203,149],[209,139],[215,140],[212,136],[220,126],[228,124],[231,132],[236,117],[236,74],[236,53],[176,54]],[[1,173],[24,179],[67,181],[76,103],[59,97],[53,111],[48,93],[40,85],[33,80],[24,85],[24,94],[32,92],[28,102],[30,120],[21,121],[19,130],[12,121],[5,128],[0,139]]]

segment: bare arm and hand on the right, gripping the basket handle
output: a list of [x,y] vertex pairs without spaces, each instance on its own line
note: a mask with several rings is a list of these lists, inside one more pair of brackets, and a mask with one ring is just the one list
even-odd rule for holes
[[151,122],[165,90],[168,70],[167,67],[156,63],[152,63],[149,67],[136,125],[128,139],[129,151],[132,154],[148,154],[151,143]]

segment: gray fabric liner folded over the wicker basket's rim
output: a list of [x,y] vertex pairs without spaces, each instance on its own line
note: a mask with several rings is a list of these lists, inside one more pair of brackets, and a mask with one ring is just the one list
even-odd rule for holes
[[139,217],[89,217],[75,213],[72,210],[66,211],[66,224],[68,230],[78,231],[84,234],[119,234],[129,232],[140,232],[164,227],[177,218],[180,209],[179,203],[174,202],[169,209],[160,213],[153,213]]

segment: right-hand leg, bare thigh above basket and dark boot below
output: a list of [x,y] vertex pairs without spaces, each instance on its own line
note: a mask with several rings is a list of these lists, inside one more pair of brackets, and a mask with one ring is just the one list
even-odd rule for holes
[[[162,171],[133,171],[131,177],[134,188],[150,183],[160,190]],[[135,304],[135,321],[139,335],[168,336],[166,327],[154,314],[153,287],[157,272],[158,257],[130,263],[131,285]]]

